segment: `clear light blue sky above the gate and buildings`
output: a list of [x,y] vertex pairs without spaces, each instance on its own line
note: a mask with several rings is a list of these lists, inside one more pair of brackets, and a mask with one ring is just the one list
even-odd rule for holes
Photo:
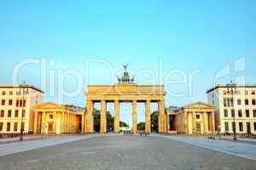
[[207,102],[216,83],[256,83],[255,8],[254,0],[0,1],[0,83],[34,59],[41,65],[22,65],[18,82],[43,88],[45,101],[83,106],[87,84],[113,84],[128,64],[138,84],[166,85],[166,106]]

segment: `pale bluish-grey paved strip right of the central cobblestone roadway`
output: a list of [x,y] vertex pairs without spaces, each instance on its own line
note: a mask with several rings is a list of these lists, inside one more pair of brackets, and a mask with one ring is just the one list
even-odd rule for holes
[[[220,139],[207,139],[205,136],[162,136],[187,144],[201,146],[211,150],[218,150],[234,156],[241,156],[256,161],[256,144],[239,143]],[[255,167],[256,169],[256,167]]]

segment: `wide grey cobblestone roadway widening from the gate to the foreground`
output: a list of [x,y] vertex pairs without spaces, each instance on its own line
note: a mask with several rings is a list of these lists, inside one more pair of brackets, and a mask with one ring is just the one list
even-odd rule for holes
[[172,139],[102,136],[0,156],[0,169],[255,169],[256,161]]

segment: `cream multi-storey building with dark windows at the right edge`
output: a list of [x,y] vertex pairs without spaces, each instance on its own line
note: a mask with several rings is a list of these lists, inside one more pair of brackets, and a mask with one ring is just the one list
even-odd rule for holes
[[[225,85],[207,91],[208,103],[215,105],[216,127],[221,133],[256,133],[256,85],[238,85],[234,101]],[[233,122],[235,116],[235,123]]]

